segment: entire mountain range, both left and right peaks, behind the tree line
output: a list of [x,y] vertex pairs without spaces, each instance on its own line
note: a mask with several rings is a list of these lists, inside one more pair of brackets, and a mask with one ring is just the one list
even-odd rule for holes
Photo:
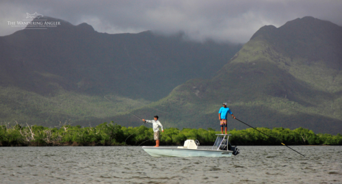
[[[56,126],[114,120],[219,129],[218,109],[254,127],[341,133],[342,27],[306,16],[244,44],[182,33],[103,34],[83,23],[0,37],[0,118]],[[107,96],[104,98],[103,96]],[[228,120],[228,129],[246,129]]]

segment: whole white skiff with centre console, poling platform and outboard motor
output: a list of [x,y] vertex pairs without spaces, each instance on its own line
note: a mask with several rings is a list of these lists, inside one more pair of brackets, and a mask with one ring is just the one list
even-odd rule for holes
[[153,146],[142,146],[142,148],[153,157],[231,157],[239,154],[239,149],[228,142],[231,134],[216,135],[218,137],[211,150],[198,149],[200,145],[198,140],[186,140],[184,146],[176,148]]

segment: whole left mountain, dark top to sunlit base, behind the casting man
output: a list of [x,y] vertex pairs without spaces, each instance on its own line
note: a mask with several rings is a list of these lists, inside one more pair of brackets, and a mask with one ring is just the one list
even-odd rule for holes
[[[23,29],[0,37],[0,122],[88,126],[210,78],[241,45],[160,36],[103,34],[82,23]],[[157,90],[156,90],[157,89]],[[109,102],[103,96],[114,95]]]

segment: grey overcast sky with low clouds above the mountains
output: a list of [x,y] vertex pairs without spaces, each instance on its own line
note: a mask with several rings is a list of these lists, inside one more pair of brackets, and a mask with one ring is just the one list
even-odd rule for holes
[[247,42],[264,25],[313,16],[342,26],[341,0],[1,0],[0,36],[17,31],[8,21],[22,21],[27,13],[88,23],[108,34],[152,30],[165,34],[184,31],[189,38]]

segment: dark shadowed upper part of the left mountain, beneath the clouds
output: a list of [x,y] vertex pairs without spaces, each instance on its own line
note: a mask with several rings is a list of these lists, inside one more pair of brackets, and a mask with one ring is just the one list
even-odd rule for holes
[[212,77],[241,48],[186,41],[183,34],[102,34],[86,23],[47,20],[61,25],[0,37],[1,86],[39,94],[60,86],[91,95],[112,93],[157,101],[189,79]]

